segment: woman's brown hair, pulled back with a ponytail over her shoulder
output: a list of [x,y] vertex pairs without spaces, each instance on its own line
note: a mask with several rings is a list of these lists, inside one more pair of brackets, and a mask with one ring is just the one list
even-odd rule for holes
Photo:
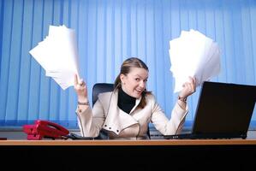
[[[127,60],[125,60],[124,62],[122,62],[122,66],[120,69],[120,73],[117,75],[115,83],[114,83],[114,87],[115,89],[120,89],[121,88],[121,79],[120,79],[120,75],[124,74],[127,75],[131,68],[144,68],[146,69],[146,71],[148,71],[148,68],[146,66],[145,62],[142,62],[139,58],[137,57],[130,57]],[[138,108],[143,109],[146,106],[146,95],[150,94],[150,91],[143,91],[141,93],[141,100],[140,103],[138,105]]]

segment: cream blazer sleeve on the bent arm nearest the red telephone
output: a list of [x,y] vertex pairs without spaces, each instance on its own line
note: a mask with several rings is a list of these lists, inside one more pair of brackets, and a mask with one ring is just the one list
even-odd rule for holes
[[90,107],[84,111],[76,109],[80,134],[84,137],[97,137],[105,120],[103,105],[98,100],[93,109]]

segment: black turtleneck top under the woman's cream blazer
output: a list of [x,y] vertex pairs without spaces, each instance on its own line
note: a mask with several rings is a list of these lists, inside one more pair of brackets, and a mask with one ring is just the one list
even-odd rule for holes
[[117,106],[126,113],[130,113],[131,109],[134,108],[136,98],[129,96],[127,93],[122,91],[122,88],[118,91],[118,102]]

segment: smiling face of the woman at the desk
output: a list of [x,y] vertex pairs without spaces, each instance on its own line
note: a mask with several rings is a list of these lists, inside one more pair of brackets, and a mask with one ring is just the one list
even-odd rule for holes
[[141,93],[146,89],[148,71],[145,68],[130,68],[128,74],[121,74],[122,90],[129,96],[140,98]]

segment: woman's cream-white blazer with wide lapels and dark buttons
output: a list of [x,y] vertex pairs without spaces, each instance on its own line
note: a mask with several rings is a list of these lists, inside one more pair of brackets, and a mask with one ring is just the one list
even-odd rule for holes
[[101,129],[109,133],[110,139],[148,139],[146,132],[151,121],[156,129],[164,134],[176,134],[182,131],[185,116],[188,114],[176,103],[170,120],[156,102],[152,94],[146,95],[144,109],[136,109],[140,99],[136,100],[129,114],[117,106],[118,90],[98,95],[93,109],[76,109],[80,133],[85,137],[97,137]]

